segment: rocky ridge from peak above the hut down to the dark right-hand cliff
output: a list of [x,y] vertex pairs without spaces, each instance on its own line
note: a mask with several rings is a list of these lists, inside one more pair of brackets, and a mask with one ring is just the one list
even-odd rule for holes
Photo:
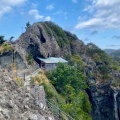
[[[60,56],[71,63],[72,56],[80,55],[85,64],[82,72],[89,85],[87,93],[92,104],[93,120],[120,119],[120,90],[114,82],[119,79],[118,76],[114,76],[114,73],[119,74],[120,72],[113,70],[114,62],[97,46],[84,45],[75,35],[62,30],[51,22],[38,22],[28,27],[26,32],[18,38],[16,45],[26,52],[24,57],[31,53],[34,60],[37,56],[43,58]],[[19,55],[21,56],[21,54]],[[0,59],[3,58],[4,55]],[[4,63],[2,64],[4,65]],[[115,83],[115,89],[111,87],[113,83]]]

